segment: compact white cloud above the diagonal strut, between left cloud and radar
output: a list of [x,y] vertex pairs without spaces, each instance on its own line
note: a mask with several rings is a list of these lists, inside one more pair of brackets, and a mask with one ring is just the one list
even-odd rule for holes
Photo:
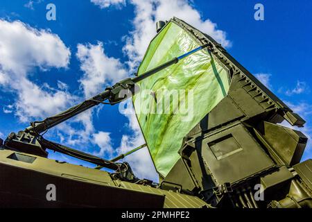
[[105,55],[103,43],[78,44],[76,56],[85,73],[79,81],[86,97],[103,92],[105,84],[116,83],[127,76],[127,71],[119,59]]

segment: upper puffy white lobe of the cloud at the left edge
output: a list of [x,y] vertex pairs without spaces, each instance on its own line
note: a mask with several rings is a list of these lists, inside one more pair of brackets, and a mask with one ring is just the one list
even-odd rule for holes
[[62,68],[70,51],[58,35],[15,21],[0,20],[0,64],[3,72],[26,75],[33,67]]

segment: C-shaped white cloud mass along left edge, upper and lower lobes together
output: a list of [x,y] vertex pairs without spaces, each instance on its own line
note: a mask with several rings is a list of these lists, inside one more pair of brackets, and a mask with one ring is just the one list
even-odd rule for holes
[[69,105],[73,96],[45,84],[39,87],[28,75],[35,67],[42,71],[67,68],[71,53],[58,35],[15,21],[0,19],[0,83],[3,90],[17,94],[14,104],[21,121],[55,114]]

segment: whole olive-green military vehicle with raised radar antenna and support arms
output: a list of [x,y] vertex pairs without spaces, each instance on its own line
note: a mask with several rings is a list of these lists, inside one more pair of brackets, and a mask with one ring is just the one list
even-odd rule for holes
[[[159,183],[137,178],[119,162],[125,155],[103,160],[42,136],[130,97]],[[312,161],[300,162],[307,138],[284,120],[305,123],[209,35],[177,18],[158,22],[135,78],[0,141],[0,206],[312,207]],[[46,150],[98,167],[49,160]]]

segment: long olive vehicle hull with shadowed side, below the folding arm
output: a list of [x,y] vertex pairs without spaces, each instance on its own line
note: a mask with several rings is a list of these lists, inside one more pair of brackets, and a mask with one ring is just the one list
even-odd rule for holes
[[[1,207],[208,207],[196,196],[112,178],[107,171],[0,148]],[[49,201],[48,185],[55,186]],[[50,188],[51,189],[51,188]]]

